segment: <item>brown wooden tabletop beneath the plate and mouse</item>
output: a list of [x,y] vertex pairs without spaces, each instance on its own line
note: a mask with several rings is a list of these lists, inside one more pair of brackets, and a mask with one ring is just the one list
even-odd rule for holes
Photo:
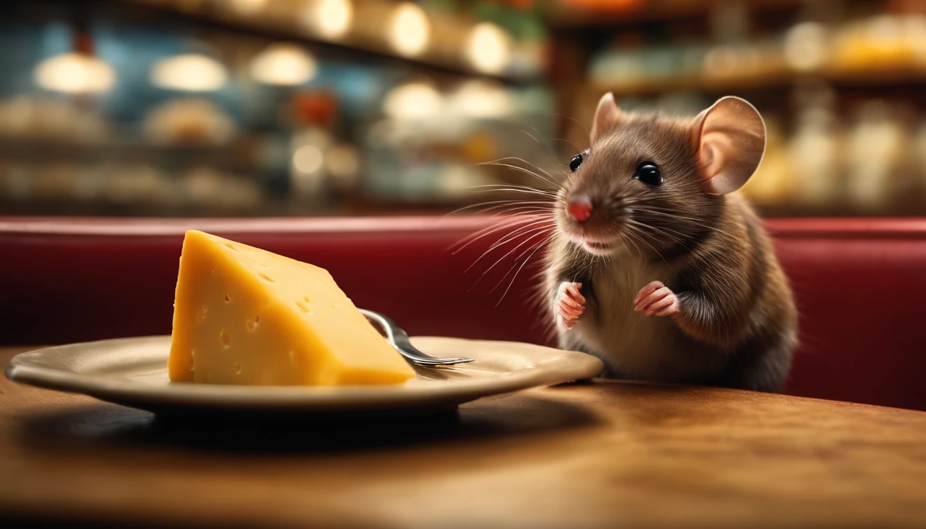
[[596,381],[413,421],[204,423],[4,378],[0,514],[0,526],[924,527],[926,413]]

